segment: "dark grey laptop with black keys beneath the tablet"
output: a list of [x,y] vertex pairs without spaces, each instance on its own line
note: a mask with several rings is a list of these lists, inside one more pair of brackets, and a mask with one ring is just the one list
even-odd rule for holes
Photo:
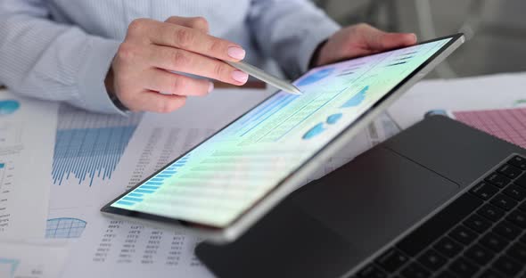
[[293,192],[218,277],[526,277],[526,150],[432,116]]

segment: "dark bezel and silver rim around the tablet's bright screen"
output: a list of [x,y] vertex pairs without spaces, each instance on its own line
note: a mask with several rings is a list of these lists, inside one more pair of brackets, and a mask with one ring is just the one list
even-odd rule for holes
[[[399,95],[403,94],[409,87],[413,86],[416,83],[416,81],[418,81],[420,78],[423,78],[423,76],[429,71],[431,71],[437,64],[439,64],[440,61],[442,61],[450,53],[452,53],[459,45],[464,43],[464,35],[459,33],[451,36],[439,37],[432,40],[424,41],[419,43],[418,45],[423,45],[447,38],[451,39],[448,41],[448,43],[442,45],[439,51],[433,53],[430,58],[428,58],[420,66],[413,70],[406,78],[402,79],[387,94],[384,94],[381,99],[374,102],[374,104],[368,110],[366,110],[364,113],[358,116],[358,118],[352,123],[350,123],[348,127],[342,129],[341,132],[338,135],[335,135],[331,141],[326,143],[325,146],[323,146],[319,151],[313,153],[313,155],[309,159],[307,159],[307,161],[301,164],[298,168],[292,170],[288,176],[284,177],[283,180],[275,184],[275,186],[273,186],[269,190],[269,192],[261,196],[261,198],[255,201],[250,208],[245,209],[238,217],[234,218],[234,220],[225,227],[202,225],[200,223],[193,223],[191,221],[176,218],[161,217],[158,215],[152,215],[149,213],[138,212],[134,210],[127,210],[124,208],[114,208],[111,207],[111,204],[125,196],[128,192],[134,191],[136,187],[144,184],[144,182],[152,178],[152,176],[159,174],[163,169],[168,168],[171,164],[177,161],[177,159],[181,159],[188,152],[193,151],[193,149],[197,148],[199,145],[201,145],[201,143],[204,143],[211,137],[217,135],[223,129],[229,127],[236,120],[241,119],[245,114],[257,108],[261,103],[266,102],[267,99],[273,97],[279,91],[275,92],[275,94],[270,95],[262,102],[259,102],[250,110],[247,110],[240,117],[234,119],[225,127],[219,129],[218,132],[214,133],[213,135],[210,135],[208,138],[201,141],[201,143],[195,145],[191,150],[186,151],[182,155],[178,156],[177,159],[173,159],[163,168],[160,168],[152,175],[144,178],[143,181],[136,184],[133,188],[127,190],[126,192],[120,194],[117,198],[111,200],[109,203],[104,205],[103,208],[101,208],[101,212],[103,212],[103,214],[108,217],[115,217],[118,219],[130,221],[138,221],[148,225],[160,226],[163,228],[173,228],[174,226],[181,227],[189,231],[190,233],[209,239],[210,241],[233,241],[248,227],[255,223],[260,217],[263,217],[263,215],[265,215],[265,213],[269,209],[273,208],[277,204],[277,202],[279,202],[279,200],[284,199],[284,197],[286,197],[287,194],[294,191],[298,186],[300,186],[302,181],[308,176],[308,173],[310,173],[312,170],[316,170],[319,163],[322,163],[323,161],[325,161],[325,159],[328,159],[331,155],[333,155],[333,153],[338,151],[345,143],[348,143],[354,135],[356,135],[360,130],[362,130],[363,127],[366,127],[366,125],[369,124],[383,110],[385,110],[385,108],[387,108],[391,102],[394,102],[396,99],[398,99]],[[335,62],[333,64],[339,62]],[[326,66],[328,65],[324,65],[322,67]],[[300,78],[302,78],[303,76],[304,75],[302,75]]]

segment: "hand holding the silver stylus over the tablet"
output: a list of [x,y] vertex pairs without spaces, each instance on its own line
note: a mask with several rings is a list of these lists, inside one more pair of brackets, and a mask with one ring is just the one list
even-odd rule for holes
[[240,61],[245,51],[208,32],[201,17],[134,20],[111,63],[107,89],[129,110],[171,112],[185,105],[186,96],[208,94],[214,86],[170,71],[243,85],[248,75],[218,59]]

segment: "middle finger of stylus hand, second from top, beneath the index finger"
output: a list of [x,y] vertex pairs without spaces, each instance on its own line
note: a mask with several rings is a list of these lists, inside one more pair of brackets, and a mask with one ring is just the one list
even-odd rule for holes
[[152,67],[214,78],[233,85],[243,85],[249,78],[248,74],[226,62],[173,47],[153,45],[146,60]]

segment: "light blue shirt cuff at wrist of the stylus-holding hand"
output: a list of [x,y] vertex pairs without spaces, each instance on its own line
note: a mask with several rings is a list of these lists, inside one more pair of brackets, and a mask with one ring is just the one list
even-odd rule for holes
[[113,104],[104,85],[119,45],[118,41],[101,37],[90,37],[88,40],[85,64],[78,73],[78,93],[84,102],[83,107],[88,110],[127,115]]

